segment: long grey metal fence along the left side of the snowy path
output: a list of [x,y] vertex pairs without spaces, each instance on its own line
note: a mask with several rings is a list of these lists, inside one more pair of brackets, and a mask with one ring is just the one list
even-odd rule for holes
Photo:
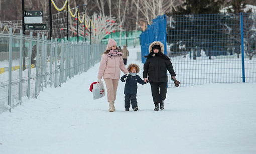
[[[10,32],[12,30],[10,29]],[[44,35],[43,35],[44,36]],[[105,45],[58,42],[47,37],[0,35],[0,112],[58,87],[100,61]]]

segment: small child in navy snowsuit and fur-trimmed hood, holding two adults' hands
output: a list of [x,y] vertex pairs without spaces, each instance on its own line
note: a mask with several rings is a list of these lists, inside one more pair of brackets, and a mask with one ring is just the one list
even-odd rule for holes
[[129,75],[123,75],[121,77],[121,81],[125,82],[125,87],[124,87],[124,107],[125,111],[129,111],[130,104],[132,104],[132,107],[134,111],[137,111],[138,108],[138,102],[137,102],[137,83],[139,82],[140,84],[146,84],[144,80],[141,79],[137,73],[140,71],[140,67],[136,64],[130,64],[127,67],[127,70],[129,71]]

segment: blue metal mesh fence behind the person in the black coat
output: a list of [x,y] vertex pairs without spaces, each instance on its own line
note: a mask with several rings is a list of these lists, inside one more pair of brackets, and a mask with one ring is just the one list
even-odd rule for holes
[[[141,35],[142,56],[153,41],[164,43],[180,86],[256,82],[255,13],[168,16],[166,27],[155,22]],[[157,37],[163,30],[166,41]]]

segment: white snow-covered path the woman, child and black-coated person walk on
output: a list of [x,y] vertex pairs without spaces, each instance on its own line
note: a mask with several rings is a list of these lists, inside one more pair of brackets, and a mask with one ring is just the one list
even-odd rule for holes
[[[140,48],[128,49],[127,64],[139,64],[142,77]],[[150,84],[138,84],[135,112],[124,111],[119,82],[108,112],[106,96],[89,91],[98,67],[0,114],[0,153],[256,153],[255,83],[168,88],[160,111]]]

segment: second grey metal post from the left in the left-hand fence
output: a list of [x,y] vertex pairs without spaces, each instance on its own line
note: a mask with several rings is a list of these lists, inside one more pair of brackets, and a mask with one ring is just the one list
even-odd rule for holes
[[[20,40],[20,83],[19,83],[19,101],[21,105],[22,101],[22,51],[23,51],[23,32],[21,31],[21,40]],[[25,55],[23,55],[25,56]],[[25,65],[25,64],[23,64]]]

